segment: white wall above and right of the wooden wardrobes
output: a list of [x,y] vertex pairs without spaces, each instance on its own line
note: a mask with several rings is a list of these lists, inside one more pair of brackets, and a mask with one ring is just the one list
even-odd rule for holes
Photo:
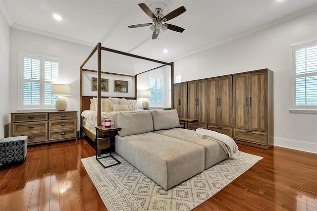
[[291,46],[316,39],[317,11],[314,11],[176,60],[174,68],[175,72],[183,71],[183,81],[271,69],[274,72],[274,145],[317,153],[317,114],[294,114],[288,110]]

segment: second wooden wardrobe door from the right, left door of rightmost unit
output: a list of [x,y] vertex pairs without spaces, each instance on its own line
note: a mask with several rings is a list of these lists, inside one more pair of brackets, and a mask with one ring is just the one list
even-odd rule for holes
[[249,129],[249,74],[233,76],[233,127]]

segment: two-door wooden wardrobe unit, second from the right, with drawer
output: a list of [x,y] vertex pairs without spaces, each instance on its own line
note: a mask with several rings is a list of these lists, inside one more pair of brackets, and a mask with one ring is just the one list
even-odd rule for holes
[[208,129],[232,137],[232,76],[208,80]]

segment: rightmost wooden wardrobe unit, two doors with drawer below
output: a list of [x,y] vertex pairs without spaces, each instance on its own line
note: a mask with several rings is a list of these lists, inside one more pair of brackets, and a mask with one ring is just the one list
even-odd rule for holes
[[264,149],[273,145],[273,72],[233,75],[233,138]]

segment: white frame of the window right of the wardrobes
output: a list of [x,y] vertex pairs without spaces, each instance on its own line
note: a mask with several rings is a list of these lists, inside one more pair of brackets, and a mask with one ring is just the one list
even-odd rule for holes
[[[291,97],[290,97],[290,109],[291,113],[314,113],[317,114],[317,106],[297,106],[296,105],[296,64],[295,64],[295,51],[298,49],[317,45],[317,41],[311,41],[292,46],[292,72],[291,72]],[[317,73],[303,73],[306,76],[315,76]]]

